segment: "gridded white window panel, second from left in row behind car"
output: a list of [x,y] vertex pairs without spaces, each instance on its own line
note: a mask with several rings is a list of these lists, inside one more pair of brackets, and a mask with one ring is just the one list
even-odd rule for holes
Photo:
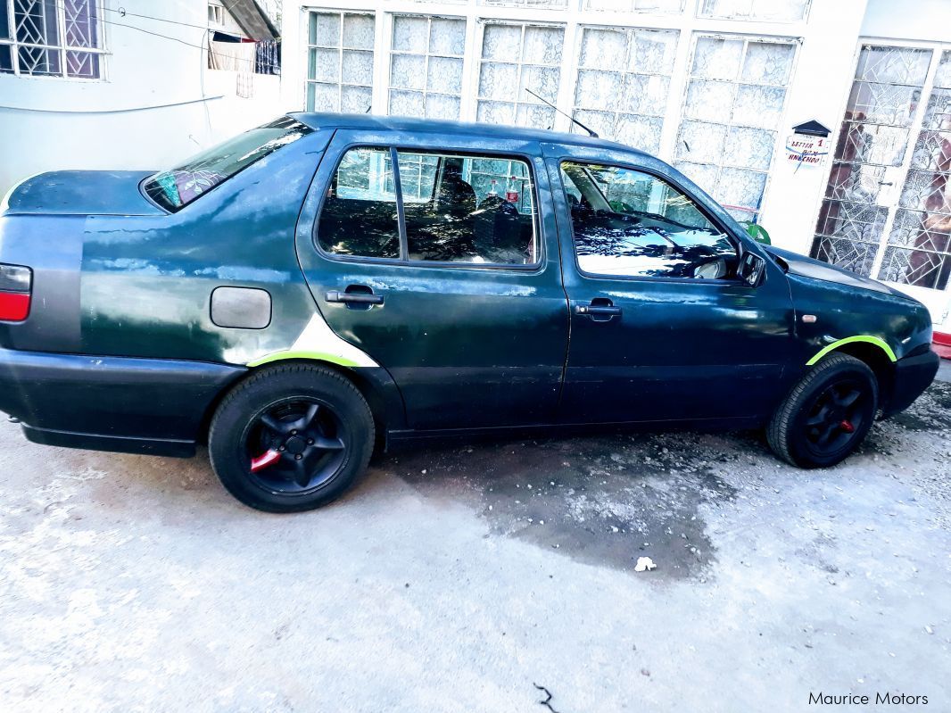
[[458,119],[465,50],[465,20],[395,15],[389,113]]

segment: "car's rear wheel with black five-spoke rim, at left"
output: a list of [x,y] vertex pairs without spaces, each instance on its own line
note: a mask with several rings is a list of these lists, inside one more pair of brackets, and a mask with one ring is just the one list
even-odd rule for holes
[[350,381],[325,367],[289,364],[251,376],[225,396],[208,455],[228,492],[268,512],[326,505],[366,470],[373,414]]

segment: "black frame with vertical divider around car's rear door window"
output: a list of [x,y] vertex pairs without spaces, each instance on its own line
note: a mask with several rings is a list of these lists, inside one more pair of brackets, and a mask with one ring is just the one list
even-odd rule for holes
[[[323,213],[324,203],[327,201],[327,189],[330,187],[330,184],[333,182],[334,177],[337,175],[337,172],[340,170],[340,164],[343,162],[343,158],[346,154],[355,149],[355,148],[388,148],[390,150],[391,161],[393,162],[394,171],[394,188],[397,195],[397,222],[398,222],[398,232],[399,232],[399,258],[376,258],[373,256],[366,255],[340,255],[338,253],[331,253],[323,249],[320,245],[320,215]],[[473,157],[473,158],[492,158],[497,157],[499,159],[509,159],[511,161],[522,161],[524,162],[529,169],[529,175],[532,177],[532,195],[534,199],[534,211],[532,212],[532,222],[534,235],[538,242],[538,252],[535,256],[535,261],[526,264],[515,264],[512,262],[450,262],[443,260],[410,260],[409,259],[409,242],[406,237],[406,217],[403,210],[403,190],[401,181],[399,178],[399,161],[398,154],[399,151],[405,153],[430,153],[430,154],[452,154],[453,156],[462,156],[462,157]],[[337,163],[334,164],[334,169],[330,172],[327,183],[320,187],[320,202],[317,206],[317,211],[314,217],[314,225],[311,228],[311,242],[314,247],[317,249],[317,252],[320,254],[321,258],[326,260],[333,260],[336,262],[357,262],[357,263],[367,263],[367,264],[377,264],[377,265],[391,265],[398,267],[435,267],[439,270],[444,269],[465,269],[465,270],[514,270],[521,273],[539,273],[542,272],[545,268],[547,251],[545,247],[544,235],[541,231],[542,222],[539,220],[541,213],[541,194],[538,190],[537,183],[537,171],[534,170],[533,159],[529,154],[519,153],[517,151],[496,151],[491,148],[479,149],[474,151],[472,149],[454,149],[454,148],[435,148],[433,146],[418,146],[418,145],[399,145],[397,143],[384,143],[384,144],[373,144],[368,142],[351,142],[340,146],[340,155],[337,157]]]

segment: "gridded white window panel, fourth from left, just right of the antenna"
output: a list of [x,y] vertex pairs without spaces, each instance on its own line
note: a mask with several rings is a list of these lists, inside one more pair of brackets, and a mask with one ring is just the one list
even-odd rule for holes
[[583,28],[574,117],[604,138],[657,153],[678,37],[676,30]]

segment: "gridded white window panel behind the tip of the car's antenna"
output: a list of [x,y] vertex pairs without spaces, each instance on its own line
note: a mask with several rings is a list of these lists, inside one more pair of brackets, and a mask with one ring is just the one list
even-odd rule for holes
[[490,124],[551,128],[565,29],[556,25],[487,23],[482,34],[476,118]]

